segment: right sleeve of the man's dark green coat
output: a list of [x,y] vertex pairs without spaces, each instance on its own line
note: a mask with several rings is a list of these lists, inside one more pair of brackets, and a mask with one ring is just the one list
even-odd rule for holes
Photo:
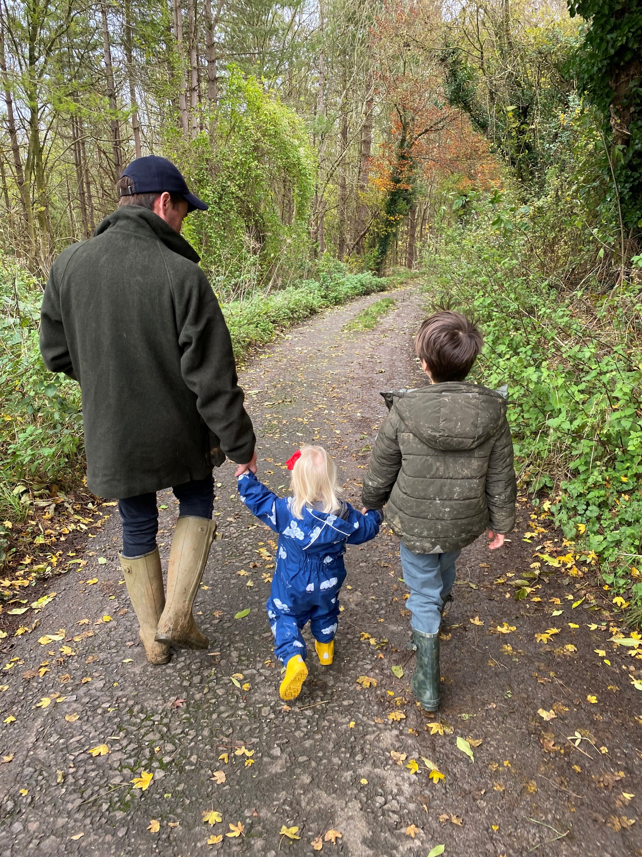
[[223,452],[236,464],[247,464],[255,437],[217,298],[199,269],[174,284],[174,292],[183,380],[196,394],[199,414],[217,435]]

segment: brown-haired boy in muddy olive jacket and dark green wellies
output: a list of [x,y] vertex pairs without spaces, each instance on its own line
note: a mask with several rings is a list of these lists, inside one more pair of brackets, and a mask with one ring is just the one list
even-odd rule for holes
[[419,327],[415,351],[431,386],[384,393],[389,406],[363,481],[368,508],[386,506],[401,541],[417,665],[411,686],[439,705],[439,626],[455,560],[486,528],[490,550],[515,523],[513,441],[502,393],[465,381],[483,345],[479,328],[444,311]]

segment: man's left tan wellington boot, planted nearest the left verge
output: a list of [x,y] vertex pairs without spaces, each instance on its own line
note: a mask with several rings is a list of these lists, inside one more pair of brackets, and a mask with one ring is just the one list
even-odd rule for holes
[[140,625],[140,639],[150,663],[167,663],[170,658],[169,645],[154,640],[158,620],[165,606],[163,590],[163,570],[160,564],[158,548],[142,556],[123,556],[122,573],[127,584],[129,600]]

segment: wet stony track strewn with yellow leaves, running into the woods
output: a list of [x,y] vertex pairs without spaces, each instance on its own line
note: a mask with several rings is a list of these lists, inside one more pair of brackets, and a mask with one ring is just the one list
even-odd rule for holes
[[[259,476],[280,493],[285,460],[300,443],[318,440],[357,505],[385,414],[378,391],[421,382],[412,354],[423,315],[416,291],[393,293],[395,311],[372,332],[342,333],[378,297],[308,321],[241,374],[259,435]],[[4,641],[14,666],[3,671],[0,719],[15,721],[0,733],[0,752],[14,755],[0,764],[0,857],[313,854],[312,842],[328,830],[342,836],[336,845],[323,842],[323,853],[352,857],[425,857],[440,843],[446,855],[472,857],[534,848],[538,857],[642,854],[634,649],[609,642],[616,626],[599,590],[582,585],[590,575],[563,571],[564,563],[546,566],[554,573],[526,600],[513,597],[511,581],[529,571],[534,552],[573,550],[545,531],[546,519],[532,520],[530,507],[522,508],[504,551],[490,554],[480,540],[462,554],[443,626],[439,717],[419,710],[409,690],[406,589],[385,526],[375,542],[349,548],[336,661],[321,668],[309,657],[309,680],[288,710],[278,698],[264,608],[275,540],[238,501],[233,467],[217,474],[223,539],[196,607],[211,650],[181,652],[166,667],[146,662],[119,584],[116,516],[87,543],[87,565],[56,580],[58,595],[38,632]],[[167,507],[159,536],[166,560],[175,502],[170,492],[159,502]],[[526,543],[530,524],[540,531]],[[235,620],[245,608],[250,614]],[[556,634],[536,641],[554,627]],[[64,638],[39,644],[38,633],[59,629]],[[401,679],[391,671],[399,665]],[[357,684],[364,675],[371,686]],[[64,699],[34,707],[56,693]],[[556,716],[544,722],[538,709]],[[474,763],[457,748],[458,736],[481,740]],[[579,746],[567,736],[580,737]],[[109,753],[92,758],[87,750],[101,744]],[[241,747],[252,755],[235,755]],[[444,779],[431,782],[422,758]],[[154,773],[144,792],[129,784],[141,770]],[[225,782],[212,779],[215,771]],[[211,810],[223,818],[213,826],[202,820]],[[238,823],[243,836],[207,844]],[[282,825],[298,827],[300,841],[282,839]]]

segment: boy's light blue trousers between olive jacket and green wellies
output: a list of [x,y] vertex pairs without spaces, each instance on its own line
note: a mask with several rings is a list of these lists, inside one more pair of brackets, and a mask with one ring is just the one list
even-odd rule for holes
[[447,554],[413,554],[399,544],[403,579],[410,590],[407,608],[413,614],[410,626],[415,631],[436,634],[442,616],[441,609],[455,584],[455,560],[461,550]]

